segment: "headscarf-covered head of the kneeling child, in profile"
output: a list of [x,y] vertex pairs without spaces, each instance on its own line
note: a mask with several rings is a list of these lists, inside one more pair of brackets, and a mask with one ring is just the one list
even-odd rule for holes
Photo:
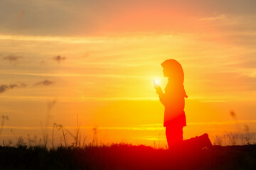
[[175,83],[182,83],[184,81],[184,72],[181,64],[174,59],[165,60],[161,66],[163,67],[164,77],[168,77]]

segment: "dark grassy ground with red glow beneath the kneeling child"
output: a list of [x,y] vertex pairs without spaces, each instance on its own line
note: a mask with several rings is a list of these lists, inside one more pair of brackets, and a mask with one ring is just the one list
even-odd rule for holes
[[0,169],[256,169],[256,145],[176,151],[142,145],[0,147]]

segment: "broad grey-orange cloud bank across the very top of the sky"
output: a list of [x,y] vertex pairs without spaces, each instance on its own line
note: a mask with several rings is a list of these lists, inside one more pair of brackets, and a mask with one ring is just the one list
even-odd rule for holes
[[[40,0],[23,1],[22,6],[17,6],[16,1],[4,1],[0,6],[0,32],[15,35],[47,36],[97,35],[100,32],[105,32],[106,26],[112,25],[110,29],[112,33],[133,30],[135,32],[156,31],[154,28],[163,29],[169,33],[170,28],[174,26],[176,27],[174,30],[176,33],[181,28],[192,31],[191,25],[193,26],[193,24],[188,26],[191,21],[186,22],[186,24],[182,22],[188,16],[203,17],[205,20],[213,21],[218,13],[250,15],[255,13],[255,5],[255,0],[194,0],[186,1],[186,3],[174,0],[152,0],[146,1],[146,3],[134,0],[108,0],[101,1],[100,5],[98,1],[75,1],[70,4],[69,0]],[[47,10],[40,10],[41,8]],[[129,18],[131,11],[134,15]],[[151,17],[149,17],[150,15]],[[73,18],[78,19],[74,20]],[[119,18],[125,18],[125,22],[122,23],[123,26],[115,24]],[[110,21],[113,21],[113,23],[109,24]],[[153,22],[158,24],[154,26],[154,24],[151,24]],[[196,28],[198,28],[198,25]]]

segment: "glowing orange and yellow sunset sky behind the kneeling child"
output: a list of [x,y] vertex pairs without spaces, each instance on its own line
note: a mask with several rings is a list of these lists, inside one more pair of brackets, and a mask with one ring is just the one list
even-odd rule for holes
[[184,139],[232,132],[256,142],[255,9],[255,0],[0,1],[0,141],[41,138],[41,124],[51,134],[57,123],[80,125],[86,142],[97,128],[103,143],[166,145],[152,80],[164,89],[161,62],[172,58],[185,74]]

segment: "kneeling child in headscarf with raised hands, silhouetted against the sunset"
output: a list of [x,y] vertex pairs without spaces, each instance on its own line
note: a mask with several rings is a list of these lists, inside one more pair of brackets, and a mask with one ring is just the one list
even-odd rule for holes
[[[178,145],[206,145],[210,142],[208,135],[201,137],[193,137],[190,140],[183,141],[183,127],[186,126],[186,115],[184,112],[185,98],[188,98],[183,86],[184,72],[181,64],[176,60],[165,60],[161,66],[163,67],[164,77],[168,77],[168,84],[164,89],[154,81],[156,93],[163,103],[164,110],[164,127],[166,127],[166,139],[169,148]],[[207,142],[206,142],[207,140]],[[209,143],[208,143],[209,144]],[[211,143],[209,144],[211,145]],[[185,146],[184,146],[185,147]]]

